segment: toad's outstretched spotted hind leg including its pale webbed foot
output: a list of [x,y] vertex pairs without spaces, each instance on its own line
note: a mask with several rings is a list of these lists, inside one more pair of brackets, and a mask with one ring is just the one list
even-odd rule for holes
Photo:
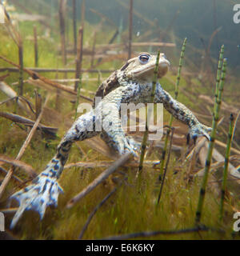
[[82,141],[96,135],[97,132],[93,130],[93,126],[94,114],[92,112],[83,114],[78,118],[68,130],[62,142],[59,143],[57,153],[50,160],[45,170],[38,174],[38,177],[33,180],[30,186],[26,186],[26,188],[19,190],[10,197],[17,199],[19,202],[19,208],[14,215],[10,228],[16,225],[25,210],[38,211],[42,219],[47,206],[58,205],[58,195],[63,193],[63,190],[58,185],[57,180],[62,174],[70,148],[74,141]]

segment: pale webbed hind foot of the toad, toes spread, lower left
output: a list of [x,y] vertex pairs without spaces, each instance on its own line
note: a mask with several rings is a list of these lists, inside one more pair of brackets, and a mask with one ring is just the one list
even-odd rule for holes
[[19,202],[18,210],[10,224],[11,229],[14,228],[25,210],[38,211],[42,220],[47,206],[58,206],[58,194],[63,193],[63,190],[56,179],[46,176],[43,172],[34,179],[30,186],[26,186],[10,197]]

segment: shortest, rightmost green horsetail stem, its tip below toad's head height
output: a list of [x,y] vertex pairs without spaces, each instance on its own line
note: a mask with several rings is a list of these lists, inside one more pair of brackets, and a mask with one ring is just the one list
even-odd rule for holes
[[234,115],[230,114],[230,125],[229,125],[229,130],[228,130],[224,170],[223,170],[223,177],[222,177],[222,190],[221,190],[220,214],[219,214],[220,221],[222,221],[222,216],[223,216],[223,204],[224,204],[224,198],[225,198],[225,192],[226,192],[226,178],[227,178],[227,170],[228,170],[231,142],[233,139],[233,130],[234,130]]

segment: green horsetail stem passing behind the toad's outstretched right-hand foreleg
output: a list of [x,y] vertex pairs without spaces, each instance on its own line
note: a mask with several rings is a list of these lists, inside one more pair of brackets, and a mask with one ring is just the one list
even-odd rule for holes
[[[178,76],[177,76],[177,80],[176,80],[176,84],[175,84],[174,99],[178,98],[178,91],[179,91],[178,86],[180,84],[180,79],[181,79],[182,62],[183,62],[183,58],[184,58],[184,54],[185,54],[185,49],[186,49],[186,38],[183,41],[182,50],[181,50],[181,54],[180,54],[180,58],[179,58]],[[166,131],[166,138],[165,138],[164,147],[162,150],[162,159],[161,159],[161,164],[160,164],[160,178],[162,177],[162,174],[163,174],[163,167],[164,167],[165,158],[166,158],[166,148],[167,148],[167,144],[168,144],[168,140],[169,140],[169,136],[170,136],[170,127],[172,126],[173,120],[174,120],[174,116],[171,114],[170,121],[169,121],[169,128]],[[162,190],[162,187],[160,187],[160,191],[161,190]],[[160,194],[161,194],[160,191],[158,194],[158,203],[160,201]]]

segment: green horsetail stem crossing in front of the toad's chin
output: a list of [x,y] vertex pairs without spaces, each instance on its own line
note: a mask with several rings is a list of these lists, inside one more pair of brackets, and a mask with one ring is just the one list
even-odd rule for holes
[[[152,86],[152,91],[150,95],[150,103],[154,103],[154,95],[155,95],[155,90],[156,90],[156,84],[157,84],[157,79],[158,79],[158,64],[159,64],[159,58],[160,58],[160,50],[158,50],[157,58],[156,58],[156,64],[154,68],[154,80],[153,80],[153,86]],[[140,155],[140,162],[138,166],[138,173],[142,171],[142,166],[143,166],[143,159],[146,151],[146,139],[148,135],[148,122],[147,119],[151,115],[152,108],[147,108],[146,110],[146,129],[142,138],[142,146],[141,146],[141,155]]]

